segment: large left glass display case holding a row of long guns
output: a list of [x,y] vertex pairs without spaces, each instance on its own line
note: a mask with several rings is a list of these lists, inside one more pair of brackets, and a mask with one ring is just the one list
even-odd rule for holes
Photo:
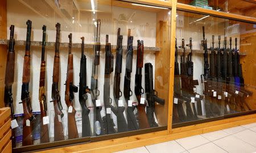
[[13,151],[166,130],[170,14],[122,1],[7,1]]

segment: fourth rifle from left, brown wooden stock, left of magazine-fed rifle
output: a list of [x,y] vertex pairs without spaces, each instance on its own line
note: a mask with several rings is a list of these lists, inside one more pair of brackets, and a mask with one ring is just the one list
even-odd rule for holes
[[52,101],[54,106],[54,141],[64,140],[63,127],[61,118],[64,114],[62,113],[62,105],[60,101],[59,93],[59,75],[60,75],[60,23],[55,25],[56,27],[56,42],[55,42],[55,56],[53,61],[53,76],[52,76]]

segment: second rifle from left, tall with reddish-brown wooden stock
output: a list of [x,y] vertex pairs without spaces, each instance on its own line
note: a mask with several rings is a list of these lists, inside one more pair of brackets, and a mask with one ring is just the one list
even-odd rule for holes
[[31,99],[28,86],[30,84],[30,36],[31,36],[31,20],[27,20],[27,39],[26,39],[26,52],[23,63],[23,76],[22,76],[22,94],[21,100],[23,104],[23,134],[22,146],[33,144],[32,140],[32,127],[31,121],[34,119],[32,115]]

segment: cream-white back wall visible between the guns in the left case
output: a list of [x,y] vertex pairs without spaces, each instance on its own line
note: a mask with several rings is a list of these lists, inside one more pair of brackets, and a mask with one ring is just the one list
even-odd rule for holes
[[[94,24],[93,18],[101,19],[101,44],[105,44],[105,35],[109,35],[109,42],[112,45],[116,45],[117,41],[117,28],[121,28],[121,35],[123,35],[123,46],[127,45],[127,30],[131,28],[131,35],[134,36],[133,46],[137,46],[137,40],[144,40],[145,47],[155,47],[156,42],[156,13],[150,13],[141,10],[124,9],[121,7],[110,7],[108,13],[98,13],[98,16],[92,16],[92,13],[82,12],[80,18],[80,25],[75,24],[75,26],[69,27],[63,19],[59,16],[48,16],[49,20],[42,18],[42,16],[35,14],[31,8],[23,5],[22,1],[7,1],[7,36],[9,39],[11,24],[15,25],[14,38],[15,40],[26,40],[26,21],[30,19],[32,21],[32,34],[31,41],[42,41],[42,26],[46,24],[47,26],[47,42],[55,42],[56,28],[55,24],[59,22],[61,24],[60,32],[60,42],[68,43],[68,34],[72,32],[73,43],[81,43],[81,36],[85,37],[85,43],[93,43],[94,39]],[[47,14],[51,14],[47,10]],[[47,15],[46,14],[46,15]],[[126,20],[129,19],[129,20]],[[13,98],[14,98],[14,108],[15,114],[22,114],[23,108],[22,104],[19,104],[21,86],[22,86],[22,72],[23,72],[23,57],[24,57],[24,46],[15,47],[15,80],[13,85]],[[115,48],[114,48],[115,49]],[[39,75],[40,75],[40,60],[41,60],[41,46],[35,47],[31,46],[31,78],[30,78],[30,96],[33,112],[40,111],[39,106]],[[54,109],[53,103],[50,102],[51,98],[51,86],[52,86],[52,72],[53,72],[53,58],[55,48],[46,47],[46,96],[47,96],[47,106],[48,115],[50,118],[49,124],[49,134],[53,137],[53,117]],[[73,65],[74,65],[74,84],[79,85],[79,72],[80,72],[80,58],[81,58],[81,48],[73,48]],[[133,54],[133,72],[131,73],[131,90],[134,93],[134,76],[136,71],[136,59],[137,51]],[[104,93],[104,71],[105,71],[105,51],[100,53],[100,71],[98,76],[98,88],[100,89],[100,100],[103,106],[103,93]],[[87,58],[87,85],[90,87],[90,76],[92,73],[92,49],[85,48],[85,55]],[[114,55],[114,65],[115,65],[115,52]],[[68,59],[68,48],[60,48],[60,80],[59,80],[59,90],[61,96],[61,104],[63,105],[63,127],[64,135],[67,136],[67,105],[65,105],[64,94],[65,94],[65,80],[67,73],[67,59]],[[145,51],[144,52],[144,63],[152,63],[153,72],[155,72],[155,54],[154,52]],[[123,49],[123,61],[122,61],[122,75],[121,75],[121,85],[120,88],[123,90],[123,80],[125,76],[125,63],[126,63],[126,49]],[[142,71],[142,86],[144,88],[144,68]],[[155,73],[153,74],[153,76]],[[113,80],[114,72],[112,72],[110,81],[110,97],[113,99]],[[155,76],[154,76],[155,77]],[[81,135],[81,106],[79,104],[79,94],[75,93],[74,107],[77,110],[76,121],[77,128]],[[143,95],[144,96],[144,95]],[[142,97],[143,97],[142,96]],[[144,96],[146,97],[146,96]],[[123,103],[125,104],[125,99],[122,96]],[[130,98],[133,101],[137,101],[137,98],[133,94]],[[88,94],[87,104],[92,109],[92,101],[90,95]],[[125,104],[126,105],[126,104]],[[105,115],[105,110],[101,111],[102,117]],[[112,113],[113,114],[113,113]],[[90,111],[90,115],[93,115],[93,110]],[[115,115],[113,115],[115,125],[117,125]],[[93,121],[91,119],[91,125]],[[116,127],[116,126],[115,126]],[[93,130],[93,129],[92,129]]]

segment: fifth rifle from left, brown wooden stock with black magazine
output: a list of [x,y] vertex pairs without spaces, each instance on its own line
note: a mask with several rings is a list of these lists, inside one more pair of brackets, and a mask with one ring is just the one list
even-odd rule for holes
[[69,47],[68,47],[68,68],[67,68],[67,80],[65,82],[65,102],[68,106],[68,139],[78,138],[78,132],[76,127],[76,110],[73,107],[74,92],[77,93],[77,86],[73,85],[73,54],[72,48],[72,34],[68,35]]

